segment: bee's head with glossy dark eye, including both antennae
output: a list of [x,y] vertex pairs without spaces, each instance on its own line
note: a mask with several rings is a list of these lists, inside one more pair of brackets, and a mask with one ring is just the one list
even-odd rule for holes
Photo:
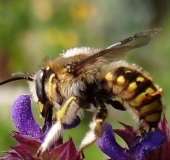
[[[52,94],[53,77],[54,73],[52,69],[48,66],[46,68],[41,68],[36,74],[24,71],[14,72],[12,73],[12,78],[0,82],[0,86],[18,80],[29,81],[31,82],[29,83],[30,88],[34,88],[31,89],[33,97],[35,94],[37,97],[36,100],[42,104],[45,104]],[[34,87],[32,87],[32,85],[34,85]]]

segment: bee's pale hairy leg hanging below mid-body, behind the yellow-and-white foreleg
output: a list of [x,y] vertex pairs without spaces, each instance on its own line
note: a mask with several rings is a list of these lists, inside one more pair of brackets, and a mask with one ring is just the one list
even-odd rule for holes
[[90,123],[90,131],[86,133],[85,137],[83,138],[79,152],[92,143],[94,143],[98,138],[102,137],[103,134],[103,123],[107,117],[107,109],[106,107],[98,107],[96,113],[93,116],[93,120]]

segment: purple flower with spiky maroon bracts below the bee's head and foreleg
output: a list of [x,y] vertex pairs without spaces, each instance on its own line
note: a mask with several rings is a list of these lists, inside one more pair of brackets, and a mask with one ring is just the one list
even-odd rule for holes
[[[2,157],[2,160],[25,160],[35,159],[36,152],[44,140],[46,133],[41,131],[41,127],[36,123],[31,111],[31,96],[21,95],[12,105],[12,120],[19,132],[13,132],[14,137],[19,145],[11,147],[11,151],[5,151],[7,156]],[[64,124],[64,129],[71,129],[80,123],[80,118],[77,116],[74,121],[68,125]],[[42,159],[57,159],[57,160],[79,160],[75,145],[70,138],[62,144],[62,137],[51,147],[45,151]]]

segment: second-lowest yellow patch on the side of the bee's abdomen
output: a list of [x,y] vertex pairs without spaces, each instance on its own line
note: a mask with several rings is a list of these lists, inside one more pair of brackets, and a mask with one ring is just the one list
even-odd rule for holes
[[152,103],[143,106],[140,110],[140,113],[143,114],[143,113],[151,112],[152,110],[155,110],[157,108],[160,108],[160,104],[157,100],[155,100]]

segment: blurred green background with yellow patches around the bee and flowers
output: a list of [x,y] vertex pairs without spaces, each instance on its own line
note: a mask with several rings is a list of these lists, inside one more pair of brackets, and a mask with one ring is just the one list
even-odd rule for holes
[[[144,68],[163,88],[165,113],[170,121],[169,5],[168,0],[1,0],[0,81],[15,71],[35,72],[44,57],[55,58],[71,47],[105,48],[134,33],[163,28],[149,45],[130,52],[127,61]],[[15,130],[11,105],[23,93],[29,93],[26,82],[0,87],[0,151],[16,144],[9,136]],[[42,124],[34,103],[33,110],[37,121]],[[88,130],[91,117],[90,113],[85,113],[81,125],[66,131],[65,139],[72,136],[78,146]],[[111,107],[107,121],[113,128],[122,128],[117,121],[133,124],[128,113]],[[84,153],[87,160],[106,159],[95,144]]]

